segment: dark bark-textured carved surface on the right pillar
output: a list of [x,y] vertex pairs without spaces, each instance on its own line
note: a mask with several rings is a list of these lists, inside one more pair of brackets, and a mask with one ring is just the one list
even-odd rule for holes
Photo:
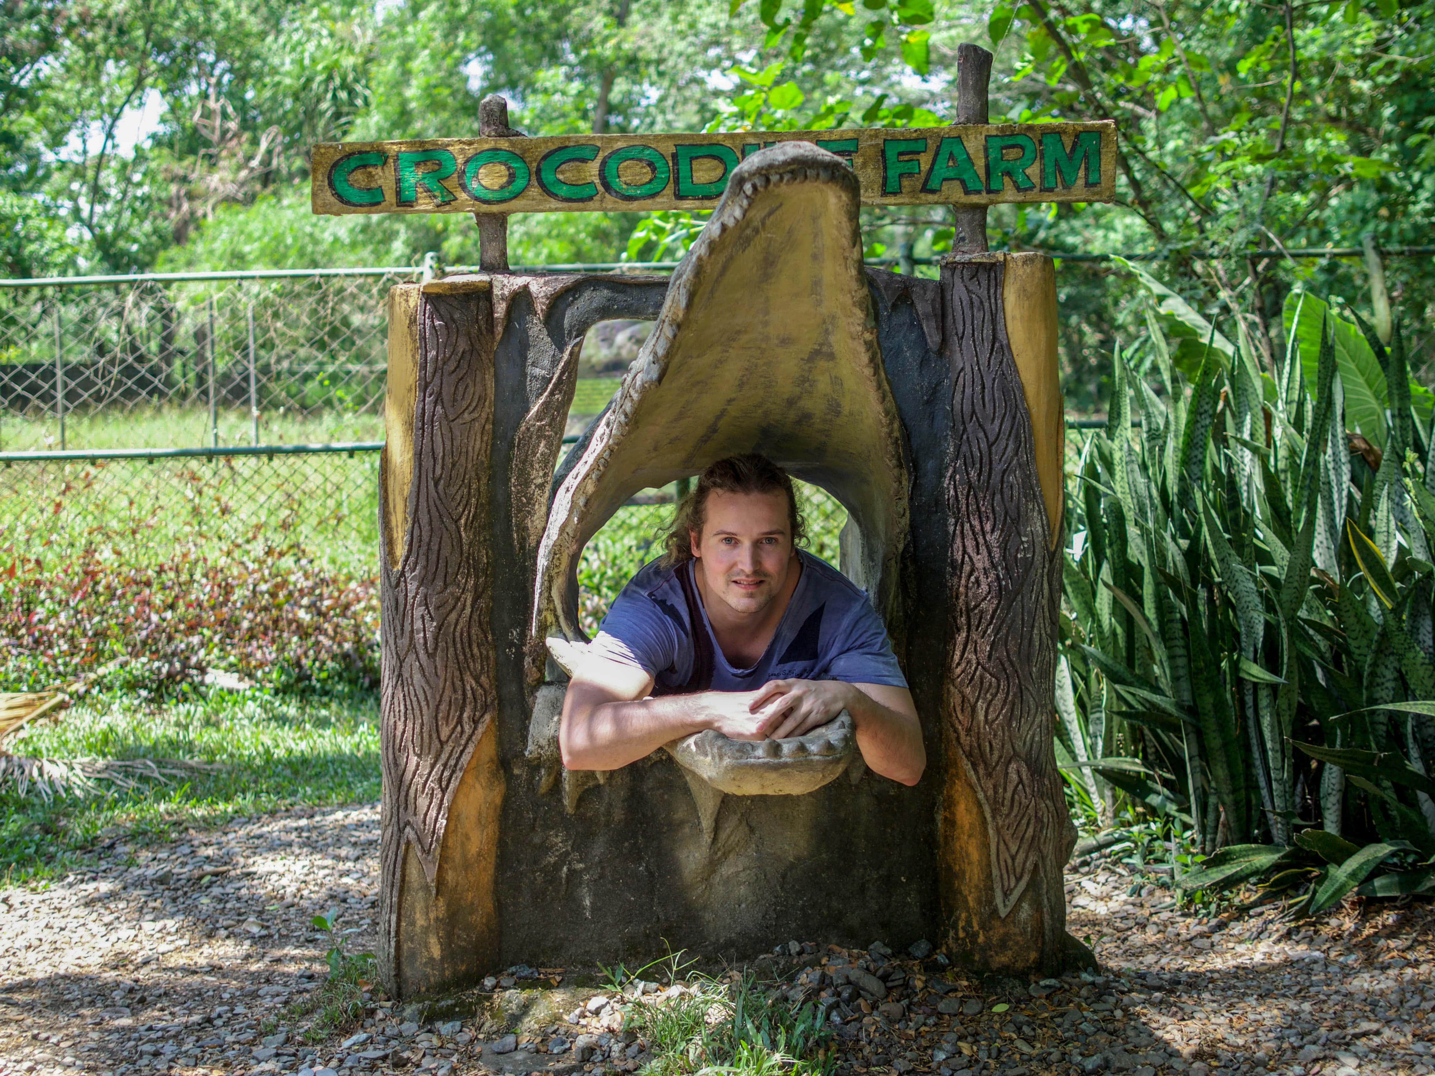
[[1071,822],[1050,743],[1060,552],[1048,541],[1002,277],[1000,255],[941,270],[953,420],[943,725],[982,805],[996,910],[1006,917],[1038,861],[1059,855]]

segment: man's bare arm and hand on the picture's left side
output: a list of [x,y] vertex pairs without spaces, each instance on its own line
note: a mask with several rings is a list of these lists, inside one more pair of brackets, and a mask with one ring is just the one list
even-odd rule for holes
[[664,743],[705,729],[735,740],[761,740],[766,717],[752,713],[756,692],[699,692],[646,699],[653,677],[644,670],[587,657],[574,670],[563,699],[558,749],[567,769],[618,769]]

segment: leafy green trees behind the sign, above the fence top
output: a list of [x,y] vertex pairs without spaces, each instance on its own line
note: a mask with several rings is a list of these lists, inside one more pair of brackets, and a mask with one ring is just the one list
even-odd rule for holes
[[[1000,207],[994,247],[1151,251],[1205,316],[1256,318],[1264,363],[1302,284],[1366,301],[1359,261],[1254,250],[1428,242],[1429,0],[7,0],[0,265],[11,275],[476,261],[462,214],[316,218],[317,141],[471,133],[499,92],[530,133],[936,123],[956,44],[996,50],[993,118],[1111,116],[1115,205]],[[874,254],[950,241],[943,214],[870,209]],[[682,215],[514,221],[515,263],[677,253]],[[1062,267],[1073,405],[1141,318],[1105,264]],[[1393,258],[1425,376],[1431,258]]]

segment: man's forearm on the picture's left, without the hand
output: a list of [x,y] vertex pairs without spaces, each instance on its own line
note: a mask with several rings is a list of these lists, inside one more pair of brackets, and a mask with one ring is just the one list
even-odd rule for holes
[[618,769],[647,758],[664,743],[709,727],[703,694],[575,707],[564,714],[560,737],[567,769]]

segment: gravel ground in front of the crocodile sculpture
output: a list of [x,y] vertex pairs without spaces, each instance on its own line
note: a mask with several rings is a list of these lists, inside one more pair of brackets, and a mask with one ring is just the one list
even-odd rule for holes
[[[621,1007],[677,991],[634,1001],[585,970],[511,968],[476,1017],[375,1000],[359,1024],[313,1029],[331,940],[311,920],[337,905],[346,950],[373,948],[377,841],[377,806],[294,811],[152,848],[110,841],[85,869],[0,891],[0,1076],[643,1066]],[[1203,918],[1101,855],[1068,882],[1071,930],[1105,974],[976,983],[921,943],[789,941],[758,967],[835,1017],[839,1073],[1435,1070],[1429,905]]]

